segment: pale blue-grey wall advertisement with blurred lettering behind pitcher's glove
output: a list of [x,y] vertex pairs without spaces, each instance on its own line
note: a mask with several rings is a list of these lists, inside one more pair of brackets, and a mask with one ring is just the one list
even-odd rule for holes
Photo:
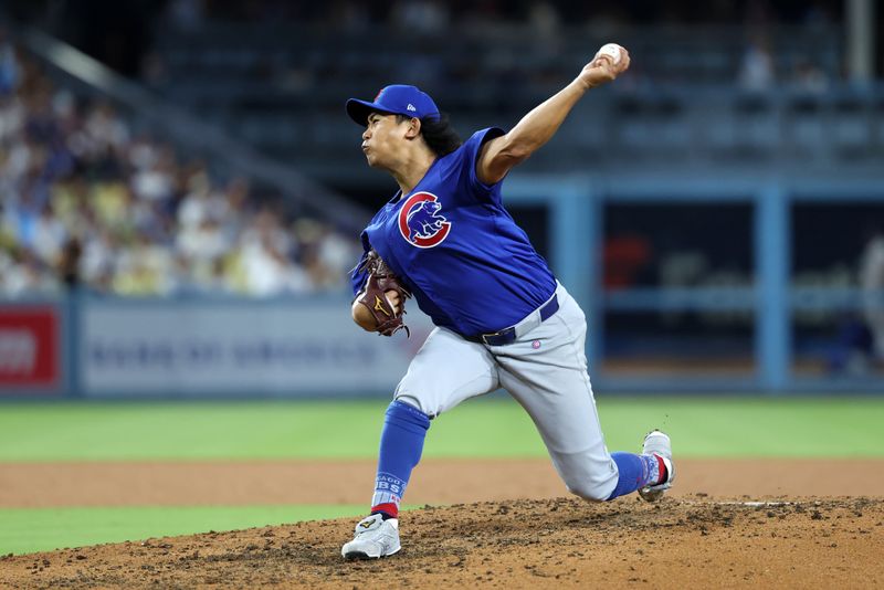
[[432,325],[417,309],[391,338],[347,302],[94,302],[78,346],[92,397],[392,396]]

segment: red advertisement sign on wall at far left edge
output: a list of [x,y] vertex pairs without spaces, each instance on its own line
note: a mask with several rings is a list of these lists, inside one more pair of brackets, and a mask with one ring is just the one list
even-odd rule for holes
[[59,334],[50,305],[0,307],[0,393],[60,384]]

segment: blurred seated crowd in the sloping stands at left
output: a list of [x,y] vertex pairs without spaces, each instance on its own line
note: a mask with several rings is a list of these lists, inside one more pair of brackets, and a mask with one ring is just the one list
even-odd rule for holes
[[0,296],[346,288],[355,238],[56,87],[0,39]]

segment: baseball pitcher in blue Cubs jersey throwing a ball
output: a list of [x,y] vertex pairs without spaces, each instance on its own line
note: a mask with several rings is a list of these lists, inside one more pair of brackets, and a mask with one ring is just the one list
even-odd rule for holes
[[666,434],[648,434],[642,454],[608,452],[587,373],[583,312],[502,197],[507,172],[555,135],[587,92],[629,64],[623,48],[604,45],[512,130],[491,127],[463,143],[414,86],[391,85],[373,101],[347,101],[347,114],[365,127],[368,165],[399,185],[362,231],[365,254],[352,272],[354,320],[391,336],[404,328],[404,305],[413,297],[435,328],[387,409],[370,516],[344,545],[345,558],[399,551],[399,505],[431,420],[497,388],[528,412],[573,494],[609,501],[638,491],[655,501],[671,486]]

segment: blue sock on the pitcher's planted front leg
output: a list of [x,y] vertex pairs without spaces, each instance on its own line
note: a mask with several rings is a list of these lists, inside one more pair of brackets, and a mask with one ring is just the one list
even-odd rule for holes
[[423,439],[429,428],[430,419],[413,405],[393,401],[387,408],[380,433],[371,514],[380,513],[386,518],[399,517],[399,503],[406,493],[411,470],[421,460]]

